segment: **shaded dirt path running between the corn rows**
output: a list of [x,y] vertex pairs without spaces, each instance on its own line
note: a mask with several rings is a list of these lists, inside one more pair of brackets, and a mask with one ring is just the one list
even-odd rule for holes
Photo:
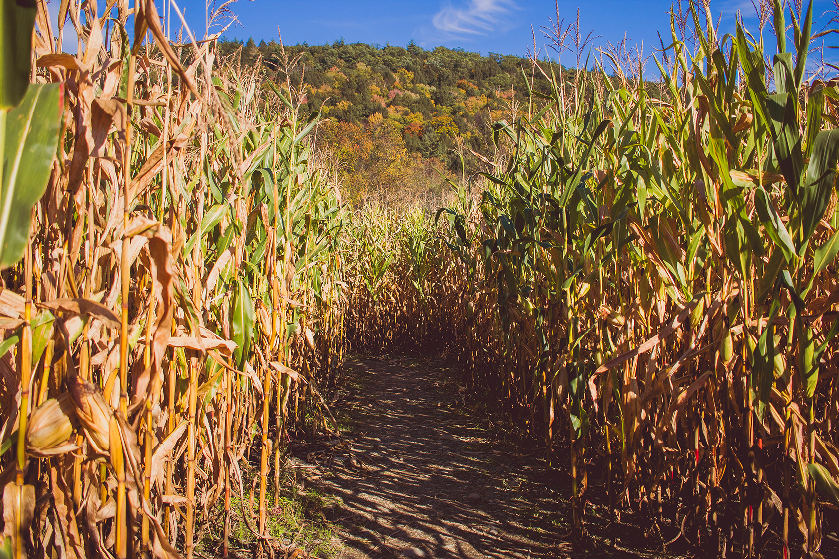
[[296,448],[289,464],[331,501],[324,513],[342,541],[336,556],[643,556],[619,539],[609,545],[607,522],[581,543],[563,539],[571,510],[561,479],[545,476],[537,454],[490,441],[440,366],[409,358],[347,366],[351,383],[334,409],[349,422],[343,442]]

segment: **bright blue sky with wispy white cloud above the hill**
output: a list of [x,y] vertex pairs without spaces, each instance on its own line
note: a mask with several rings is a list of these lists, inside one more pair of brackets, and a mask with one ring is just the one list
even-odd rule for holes
[[[50,0],[54,18],[58,1]],[[166,0],[156,1],[163,14]],[[583,35],[592,31],[596,36],[593,47],[609,42],[618,44],[626,36],[628,44],[643,42],[644,53],[650,54],[659,46],[657,31],[664,37],[665,44],[668,42],[668,11],[672,1],[560,0],[559,18],[564,18],[566,24],[571,23],[576,20],[579,8]],[[758,3],[758,0],[754,1]],[[212,5],[212,0],[210,2]],[[216,2],[221,4],[221,0]],[[203,35],[206,0],[180,0],[178,5],[195,34]],[[833,5],[833,0],[814,1],[816,30],[831,18],[833,14],[825,13]],[[413,40],[425,49],[445,45],[482,54],[524,55],[528,49],[533,50],[532,28],[540,57],[555,56],[546,48],[548,39],[542,34],[543,27],[550,27],[551,20],[556,19],[552,0],[243,0],[233,3],[231,9],[238,19],[238,23],[233,23],[225,33],[231,39],[277,40],[279,29],[286,44],[304,41],[324,44],[342,38],[347,43],[404,46]],[[722,14],[722,33],[733,30],[738,10],[743,13],[747,28],[756,33],[758,24],[752,0],[711,1],[715,16]],[[839,14],[836,17],[839,18]],[[211,33],[219,29],[212,28]],[[74,45],[69,50],[75,50],[75,37],[67,39],[67,46]],[[826,41],[839,45],[839,34],[827,36]],[[833,52],[839,54],[839,50]],[[831,56],[831,59],[836,58],[839,56]],[[563,62],[568,64],[571,60]]]

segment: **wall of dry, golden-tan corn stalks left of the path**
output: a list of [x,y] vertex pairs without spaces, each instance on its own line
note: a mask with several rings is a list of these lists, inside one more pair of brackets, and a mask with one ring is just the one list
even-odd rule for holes
[[43,1],[3,10],[44,84],[3,110],[3,261],[23,256],[0,295],[5,552],[190,557],[213,524],[227,556],[233,515],[284,552],[265,525],[285,443],[326,425],[344,344],[346,215],[300,91],[266,105],[258,75],[216,70],[216,37],[169,41],[174,3],[167,29],[154,2],[61,3],[57,35]]

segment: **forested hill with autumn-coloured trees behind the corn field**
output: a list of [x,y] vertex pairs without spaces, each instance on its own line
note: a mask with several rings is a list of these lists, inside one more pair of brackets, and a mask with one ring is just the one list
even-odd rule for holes
[[[459,157],[452,151],[460,142],[458,138],[464,147],[477,152],[487,148],[492,122],[509,117],[504,113],[513,98],[524,100],[523,70],[528,78],[533,70],[530,61],[519,56],[482,55],[446,47],[426,50],[413,43],[403,48],[337,41],[285,49],[291,58],[302,54],[292,81],[299,82],[303,72],[308,85],[305,111],[319,110],[333,123],[326,137],[333,140],[338,152],[350,159],[357,159],[361,152],[363,158],[365,146],[371,142],[368,148],[372,153],[387,151],[388,146],[376,143],[374,132],[378,131],[387,142],[404,144],[395,148],[404,149],[407,156],[421,156],[418,164],[435,160],[450,169],[459,165]],[[278,43],[222,39],[219,51],[227,57],[238,52],[246,66],[259,61],[268,79],[284,81]],[[550,72],[545,65],[543,68]],[[558,68],[554,70],[558,73]],[[565,72],[570,77],[568,70]],[[548,92],[549,87],[536,70],[534,89]],[[381,124],[383,130],[379,130]],[[365,136],[369,142],[364,142]],[[359,170],[358,161],[346,157],[341,161],[347,168]],[[369,170],[369,165],[362,167]],[[371,182],[361,180],[367,186]]]

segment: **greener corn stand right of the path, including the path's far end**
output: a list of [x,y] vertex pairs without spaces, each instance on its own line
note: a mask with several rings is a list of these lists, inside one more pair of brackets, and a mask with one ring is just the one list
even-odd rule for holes
[[424,227],[362,216],[348,331],[446,339],[570,474],[570,536],[590,472],[665,548],[820,556],[835,521],[839,80],[805,80],[811,7],[772,15],[789,44],[691,3],[659,81],[546,75]]

